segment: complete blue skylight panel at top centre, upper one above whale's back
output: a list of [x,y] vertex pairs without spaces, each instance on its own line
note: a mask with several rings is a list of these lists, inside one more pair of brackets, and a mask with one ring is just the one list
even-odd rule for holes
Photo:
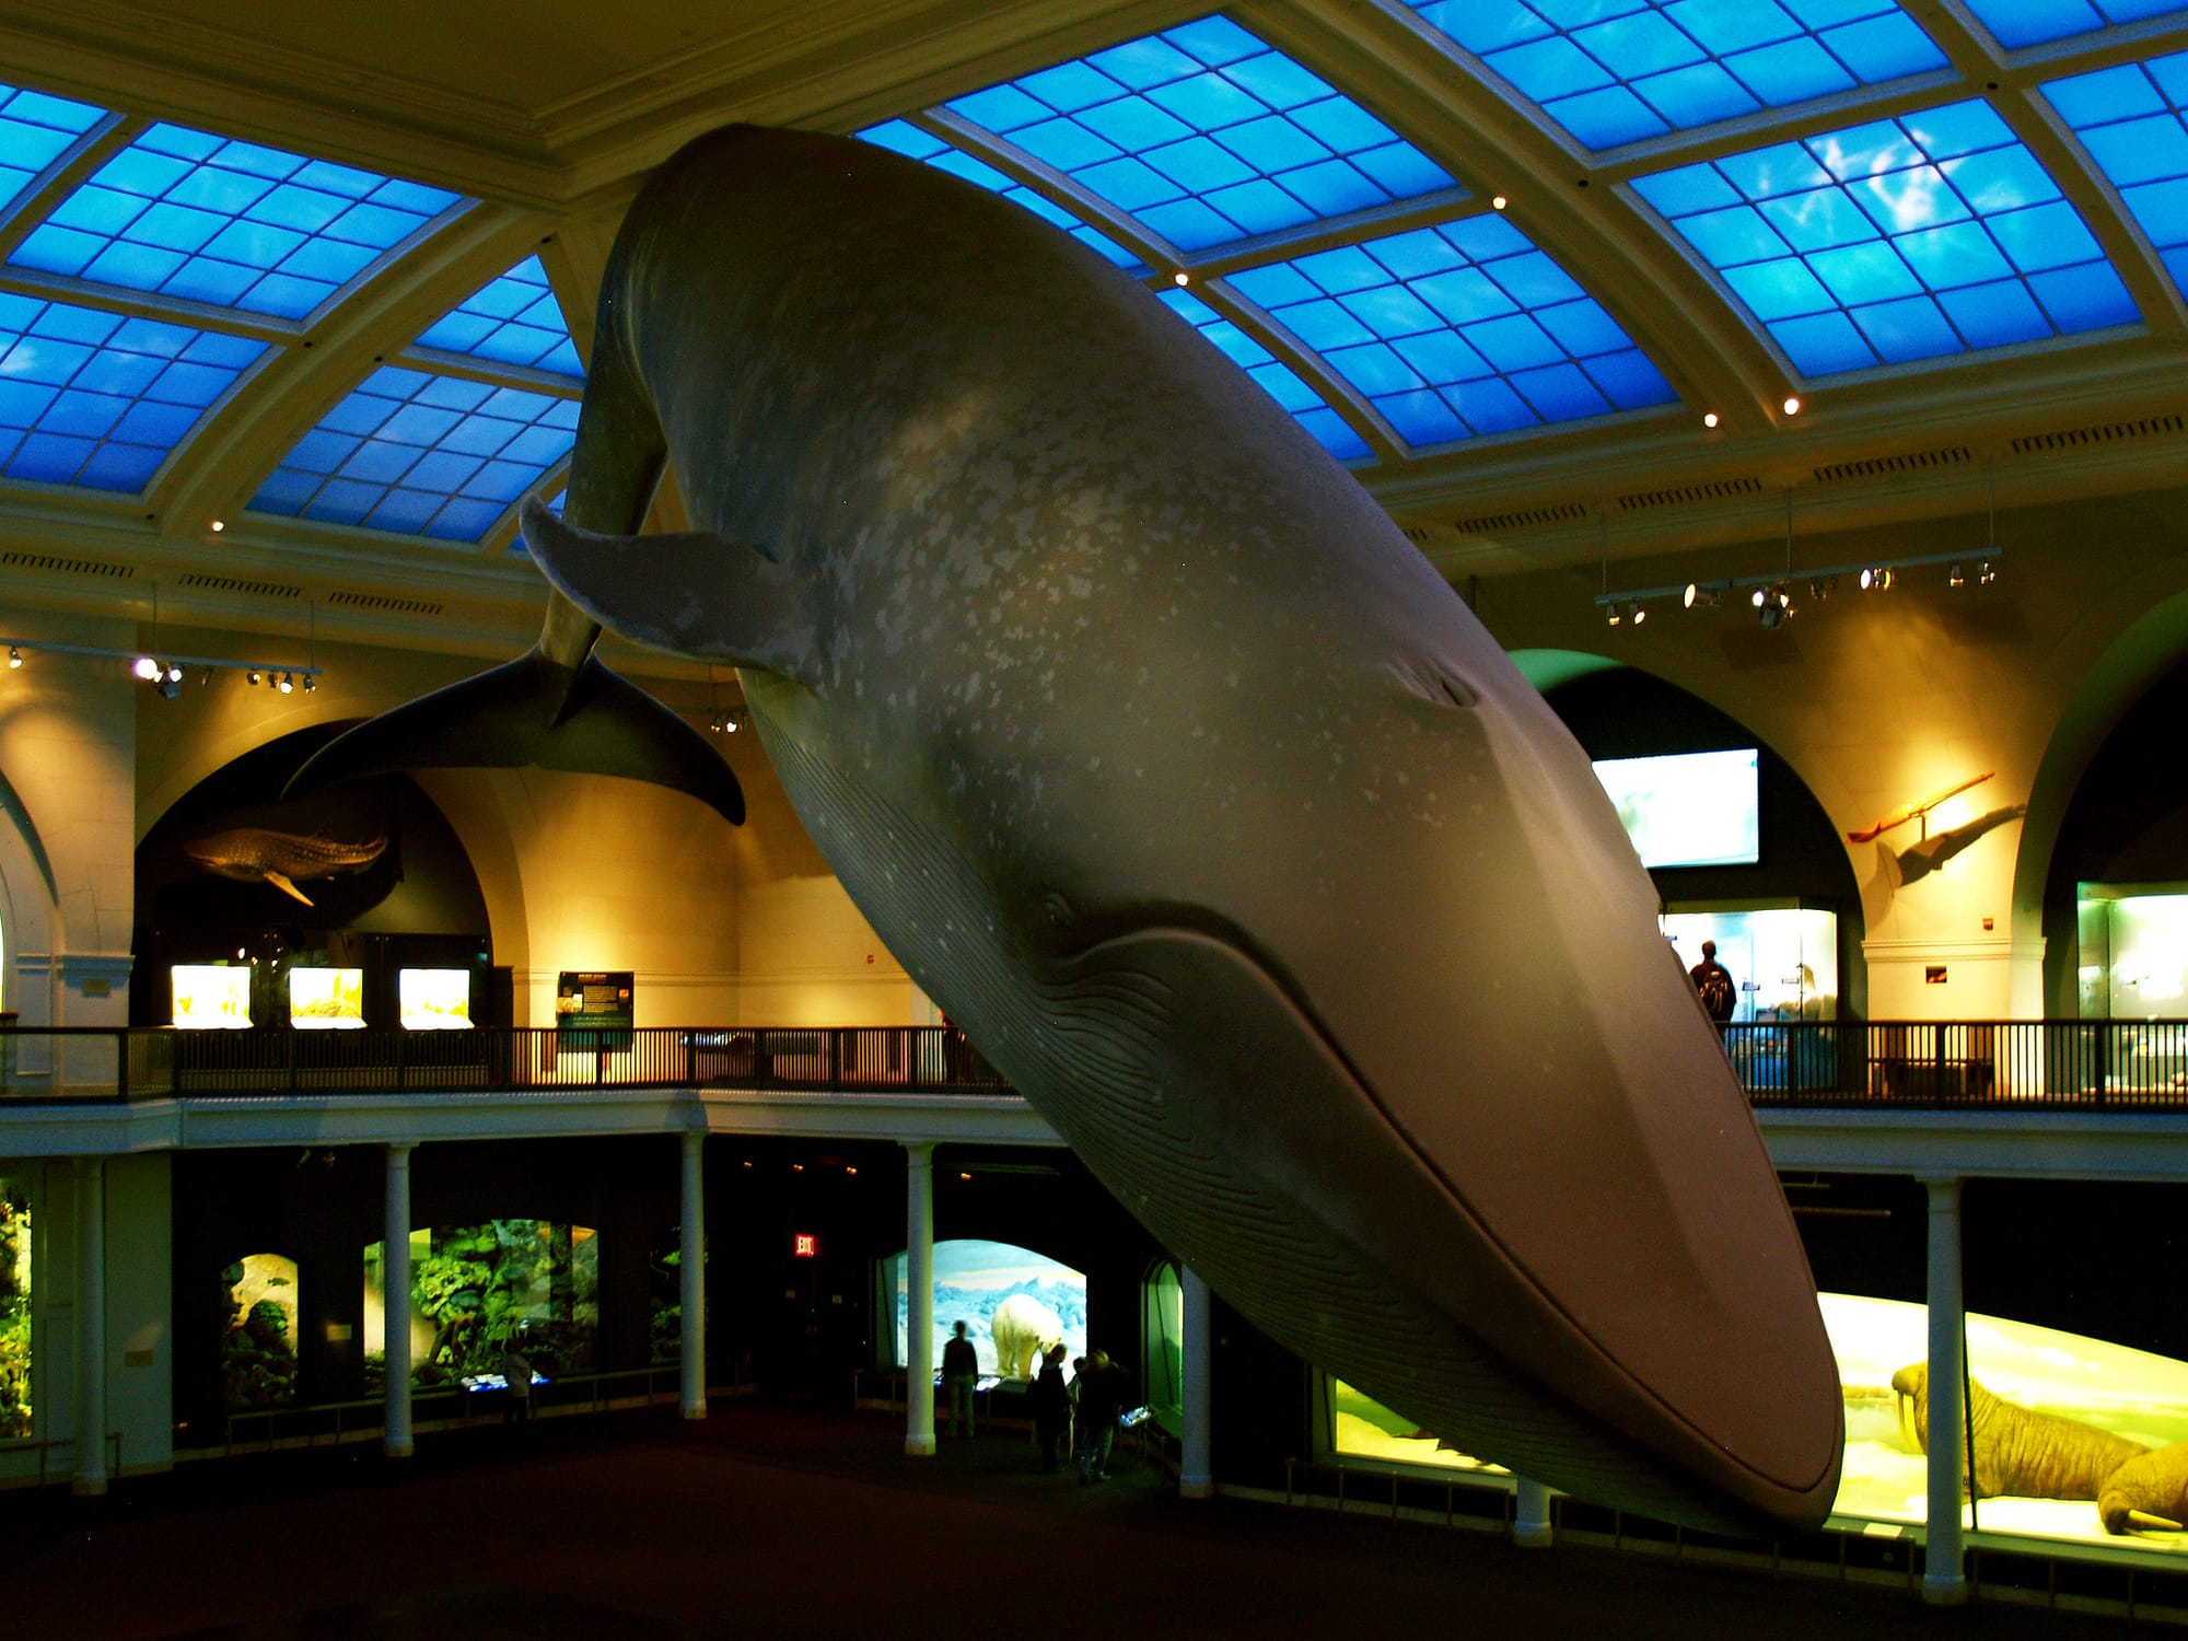
[[1455,186],[1359,103],[1230,18],[993,85],[950,112],[1182,252]]

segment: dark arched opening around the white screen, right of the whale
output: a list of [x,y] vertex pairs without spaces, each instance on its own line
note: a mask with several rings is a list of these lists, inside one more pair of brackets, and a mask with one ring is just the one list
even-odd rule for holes
[[[1704,934],[1720,947],[1735,928],[1750,930],[1742,939],[1759,939],[1742,958],[1746,969],[1735,965],[1735,980],[1753,987],[1742,993],[1742,1020],[1759,1009],[1774,1017],[1864,1015],[1860,884],[1838,829],[1792,766],[1739,720],[1639,667],[1571,650],[1518,650],[1512,659],[1591,759],[1755,750],[1755,858],[1650,866],[1667,932],[1683,936],[1680,961],[1689,967],[1700,961],[1689,945]],[[1757,928],[1766,932],[1755,936]],[[1825,971],[1836,974],[1836,985]]]

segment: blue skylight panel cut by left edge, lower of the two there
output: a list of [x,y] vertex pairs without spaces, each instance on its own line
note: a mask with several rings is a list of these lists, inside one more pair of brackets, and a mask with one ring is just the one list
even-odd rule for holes
[[0,473],[138,494],[265,350],[0,293]]

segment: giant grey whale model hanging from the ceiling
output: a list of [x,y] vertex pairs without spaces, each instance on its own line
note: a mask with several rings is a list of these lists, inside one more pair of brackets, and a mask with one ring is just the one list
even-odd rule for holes
[[[667,459],[702,529],[639,538]],[[718,131],[617,238],[565,516],[525,534],[582,615],[300,779],[527,691],[536,750],[595,621],[735,663],[888,947],[1243,1315],[1575,1494],[1823,1521],[1807,1260],[1610,801],[1149,291],[897,155]]]

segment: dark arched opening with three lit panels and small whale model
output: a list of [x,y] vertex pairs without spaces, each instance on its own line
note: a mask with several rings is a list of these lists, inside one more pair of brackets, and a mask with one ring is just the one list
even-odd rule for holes
[[245,753],[144,831],[131,1024],[508,1024],[479,875],[416,781],[280,799],[339,729]]

